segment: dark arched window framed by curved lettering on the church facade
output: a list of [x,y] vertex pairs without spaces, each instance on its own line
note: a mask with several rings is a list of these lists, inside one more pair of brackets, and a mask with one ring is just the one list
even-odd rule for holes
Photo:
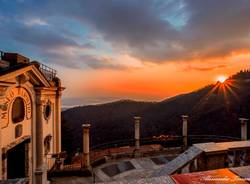
[[25,107],[21,97],[17,97],[12,105],[12,122],[19,123],[24,120]]

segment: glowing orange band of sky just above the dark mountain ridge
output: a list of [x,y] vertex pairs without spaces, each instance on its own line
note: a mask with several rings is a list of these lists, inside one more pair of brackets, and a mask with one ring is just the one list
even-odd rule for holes
[[158,101],[191,92],[214,83],[220,75],[230,76],[247,68],[250,68],[250,53],[238,53],[206,61],[145,64],[127,70],[67,69],[61,73],[61,78],[67,87],[65,98],[84,95],[90,99],[103,97],[103,102],[106,101],[105,97],[111,97],[111,100]]

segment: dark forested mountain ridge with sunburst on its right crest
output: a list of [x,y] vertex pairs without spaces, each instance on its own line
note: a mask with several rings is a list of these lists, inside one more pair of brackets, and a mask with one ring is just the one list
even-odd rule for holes
[[240,137],[239,118],[250,118],[250,71],[161,102],[120,100],[67,109],[62,112],[62,149],[81,149],[83,123],[91,124],[91,146],[133,139],[134,116],[141,117],[144,138],[181,135],[184,114],[189,134]]

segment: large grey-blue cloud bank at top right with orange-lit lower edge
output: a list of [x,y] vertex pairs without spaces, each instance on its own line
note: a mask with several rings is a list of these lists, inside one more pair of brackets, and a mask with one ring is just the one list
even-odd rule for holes
[[248,0],[73,0],[48,7],[55,6],[57,14],[90,26],[115,50],[141,60],[218,57],[250,49]]

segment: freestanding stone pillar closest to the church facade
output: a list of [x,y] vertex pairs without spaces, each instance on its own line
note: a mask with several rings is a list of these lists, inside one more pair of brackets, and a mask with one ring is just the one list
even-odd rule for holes
[[90,124],[83,124],[83,155],[82,155],[82,167],[88,168],[90,166],[89,159],[89,129]]

